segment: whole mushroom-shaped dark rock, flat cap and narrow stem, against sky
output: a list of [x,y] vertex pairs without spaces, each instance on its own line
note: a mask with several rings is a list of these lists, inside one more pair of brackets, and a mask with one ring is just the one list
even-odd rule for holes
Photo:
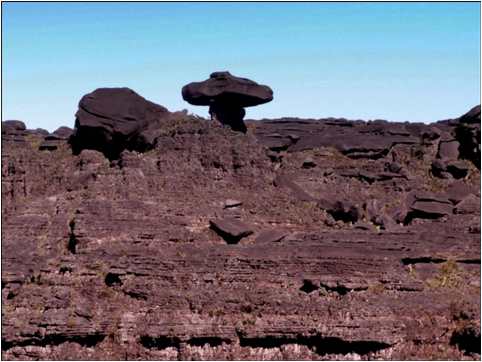
[[235,77],[229,72],[214,72],[203,82],[185,85],[182,98],[195,106],[209,106],[211,119],[235,131],[246,132],[244,107],[272,101],[273,91],[266,85]]

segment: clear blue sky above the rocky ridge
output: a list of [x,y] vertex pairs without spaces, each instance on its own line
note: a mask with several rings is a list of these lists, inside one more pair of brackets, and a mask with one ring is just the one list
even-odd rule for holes
[[204,117],[214,71],[269,85],[246,118],[433,122],[480,103],[480,3],[2,2],[2,120],[73,127],[80,98],[129,87]]

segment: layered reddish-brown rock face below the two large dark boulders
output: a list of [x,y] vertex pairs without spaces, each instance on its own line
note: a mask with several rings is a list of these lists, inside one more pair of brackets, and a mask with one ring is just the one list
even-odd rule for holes
[[3,124],[2,357],[480,359],[461,124],[178,114],[116,157]]

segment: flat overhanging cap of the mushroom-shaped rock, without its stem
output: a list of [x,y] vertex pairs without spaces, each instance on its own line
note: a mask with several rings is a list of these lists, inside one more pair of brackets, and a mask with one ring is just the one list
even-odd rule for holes
[[266,85],[239,78],[229,72],[214,72],[203,82],[193,82],[182,88],[182,98],[195,106],[225,102],[240,107],[252,107],[273,100],[273,91]]

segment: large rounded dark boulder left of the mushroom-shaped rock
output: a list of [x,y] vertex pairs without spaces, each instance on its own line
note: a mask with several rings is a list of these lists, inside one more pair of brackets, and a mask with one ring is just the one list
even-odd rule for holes
[[[141,133],[169,112],[129,88],[99,88],[79,102],[72,149],[93,149],[117,158],[124,149],[144,151]],[[147,145],[149,146],[149,145]],[[152,145],[151,145],[152,146]]]

